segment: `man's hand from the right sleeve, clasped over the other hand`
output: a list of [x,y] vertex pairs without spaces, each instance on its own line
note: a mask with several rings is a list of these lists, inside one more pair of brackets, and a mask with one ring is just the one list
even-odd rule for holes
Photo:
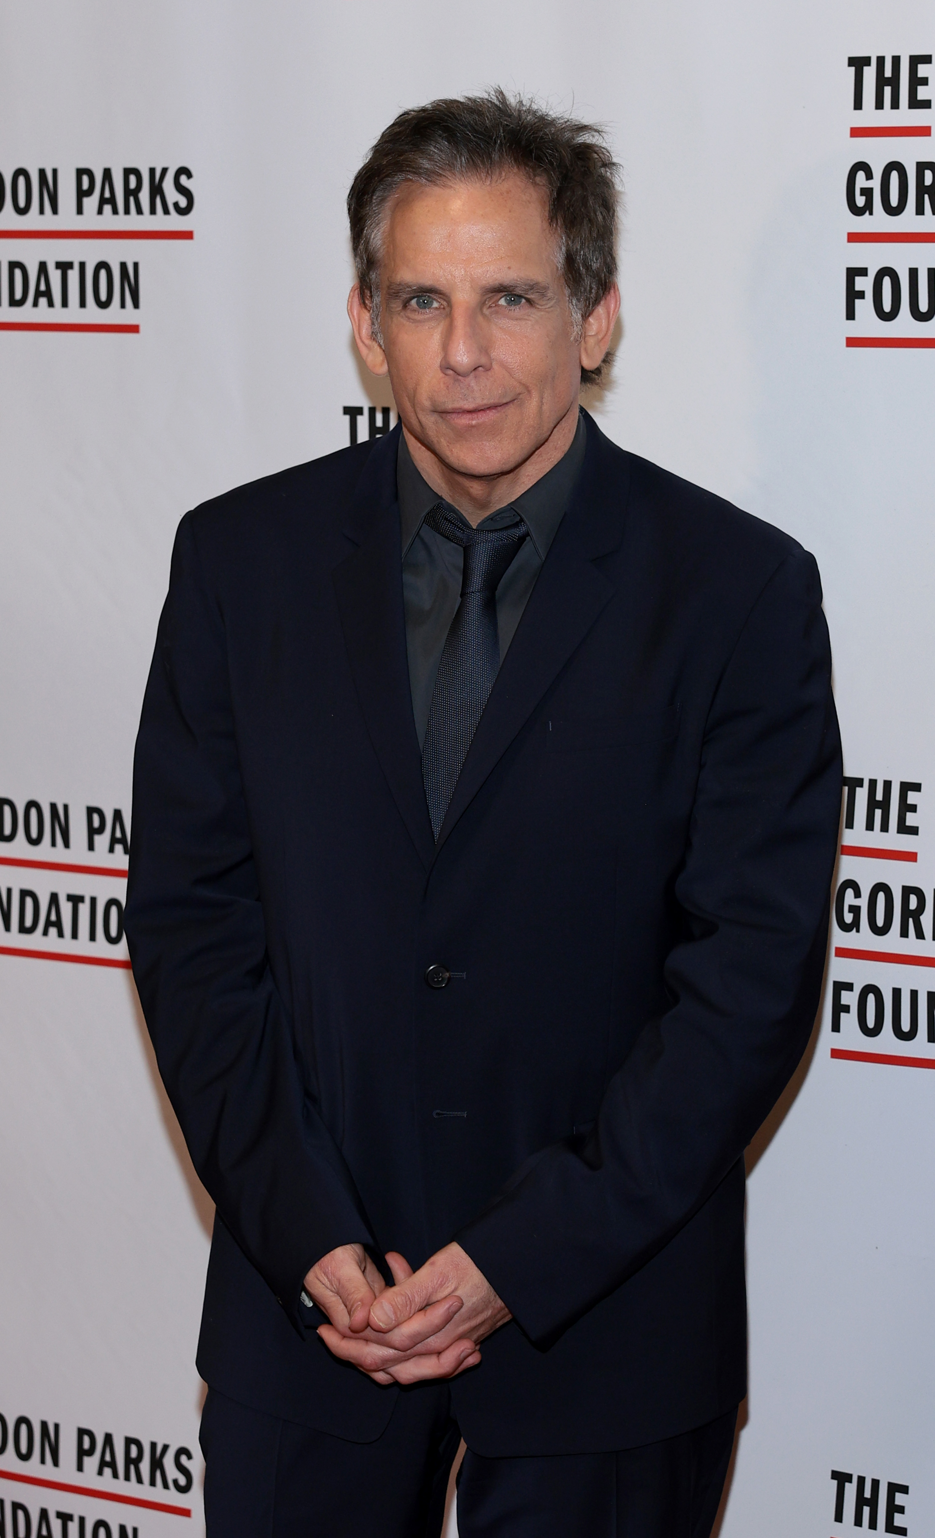
[[375,1383],[454,1378],[475,1367],[477,1346],[511,1313],[461,1246],[448,1244],[417,1272],[395,1252],[386,1260],[395,1286],[375,1295],[364,1332],[321,1326],[329,1350]]

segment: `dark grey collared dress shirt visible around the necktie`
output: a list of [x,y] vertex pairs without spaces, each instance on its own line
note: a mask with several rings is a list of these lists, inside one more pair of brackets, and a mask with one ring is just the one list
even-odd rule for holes
[[[571,501],[584,458],[586,437],[584,420],[578,417],[578,431],[567,452],[558,460],[558,464],[546,471],[541,480],[537,480],[521,497],[517,497],[506,508],[498,508],[497,512],[487,514],[478,524],[481,529],[503,529],[523,518],[529,529],[529,538],[523,540],[497,589],[500,661],[506,657],[509,643],[517,634],[517,626],[523,618],[523,609],[529,601],[535,578],[541,571],[543,561],[549,554],[549,546],[558,532],[564,509]],[[446,540],[443,534],[426,529],[426,514],[429,508],[435,506],[440,497],[418,474],[406,446],[404,434],[400,434],[397,489],[403,531],[403,603],[406,609],[409,686],[412,689],[415,731],[418,734],[418,746],[421,747],[426,738],[429,706],[432,703],[432,689],[435,687],[435,674],[441,661],[444,637],[461,601],[464,551],[452,540]],[[457,517],[461,518],[461,514],[457,512]],[[463,518],[463,523],[466,529],[471,528],[466,518]]]

